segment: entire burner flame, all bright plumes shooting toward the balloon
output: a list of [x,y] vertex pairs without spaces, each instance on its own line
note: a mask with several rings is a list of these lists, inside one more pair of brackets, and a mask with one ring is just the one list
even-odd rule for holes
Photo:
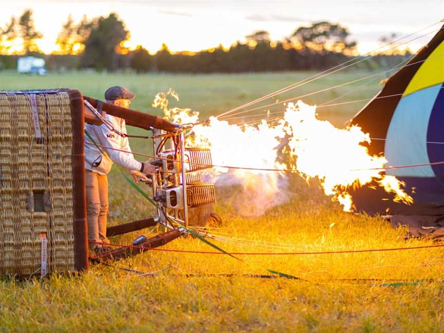
[[[178,123],[196,123],[199,114],[191,109],[169,108],[168,97],[178,100],[170,89],[159,93],[154,107],[160,107],[165,117]],[[362,143],[370,143],[368,134],[354,125],[344,129],[319,120],[316,106],[298,101],[289,103],[283,119],[277,124],[265,120],[258,125],[233,125],[210,117],[207,124],[193,127],[187,145],[209,147],[213,164],[257,169],[291,168],[306,180],[317,178],[324,193],[339,201],[344,211],[353,211],[350,189],[376,182],[393,200],[411,204],[413,199],[404,192],[404,183],[384,174],[387,160],[371,156]],[[287,148],[282,150],[282,146]],[[290,158],[282,161],[282,152]],[[215,167],[206,176],[216,186],[240,185],[241,195],[233,200],[242,206],[244,215],[261,215],[270,207],[288,199],[287,173],[261,170]]]

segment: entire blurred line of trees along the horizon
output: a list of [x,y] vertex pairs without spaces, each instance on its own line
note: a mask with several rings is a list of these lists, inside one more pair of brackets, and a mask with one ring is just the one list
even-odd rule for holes
[[[137,72],[254,72],[277,70],[320,70],[356,57],[357,42],[349,40],[350,32],[340,24],[316,22],[296,28],[282,41],[272,41],[264,30],[245,36],[230,48],[222,45],[199,52],[171,52],[163,44],[156,54],[143,46],[135,50],[125,47],[130,32],[116,13],[78,23],[71,16],[58,34],[57,50],[43,54],[38,48],[43,34],[36,30],[32,10],[18,18],[11,17],[0,28],[0,68],[15,68],[18,54],[11,55],[14,41],[22,41],[22,50],[15,53],[38,55],[46,60],[49,69],[85,69],[115,71],[131,69]],[[383,36],[390,42],[396,36]],[[15,45],[16,47],[16,45]],[[410,55],[391,51],[378,55],[361,67],[387,66]]]

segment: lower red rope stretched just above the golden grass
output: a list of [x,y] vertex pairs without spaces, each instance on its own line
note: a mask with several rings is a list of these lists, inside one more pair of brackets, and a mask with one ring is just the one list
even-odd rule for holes
[[[213,251],[192,251],[192,250],[174,250],[174,249],[162,249],[162,248],[149,248],[143,246],[135,245],[120,245],[113,243],[101,243],[88,241],[89,244],[100,244],[113,247],[123,247],[139,250],[149,250],[149,251],[164,251],[164,252],[178,252],[178,253],[198,253],[198,254],[225,254],[224,252],[213,252]],[[344,250],[344,251],[318,251],[318,252],[230,252],[230,254],[236,255],[303,255],[303,254],[340,254],[340,253],[362,253],[362,252],[382,252],[382,251],[401,251],[401,250],[416,250],[416,249],[427,249],[427,248],[437,248],[444,247],[444,244],[440,245],[424,245],[424,246],[414,246],[414,247],[401,247],[401,248],[387,248],[387,249],[364,249],[364,250]]]

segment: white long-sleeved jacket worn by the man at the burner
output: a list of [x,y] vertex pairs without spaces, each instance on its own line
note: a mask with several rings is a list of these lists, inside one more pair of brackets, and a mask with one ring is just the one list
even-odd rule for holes
[[[115,130],[126,134],[125,120],[118,117],[106,115],[106,120],[113,125]],[[110,131],[105,124],[100,126],[87,124],[85,131],[89,133],[94,142],[102,146],[124,150],[131,153],[130,143],[128,138],[123,138],[120,135]],[[85,141],[91,140],[85,135]],[[100,147],[104,152],[102,154],[94,143],[85,144],[85,169],[97,172],[101,175],[106,175],[113,166],[113,162],[121,165],[129,170],[140,171],[142,163],[134,159],[133,154],[119,152],[112,149]],[[106,155],[106,156],[104,156]]]

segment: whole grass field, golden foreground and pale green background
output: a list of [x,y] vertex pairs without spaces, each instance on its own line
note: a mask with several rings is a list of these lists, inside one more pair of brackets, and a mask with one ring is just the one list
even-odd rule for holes
[[[102,98],[111,85],[137,94],[132,107],[150,107],[156,93],[170,87],[181,100],[204,116],[219,114],[254,98],[294,83],[313,73],[252,75],[98,75],[51,74],[46,77],[0,73],[0,89],[78,88]],[[369,72],[346,72],[307,85],[279,99],[334,86]],[[346,100],[371,98],[378,80]],[[321,104],[353,90],[346,86],[303,99]],[[302,89],[303,88],[303,89]],[[320,109],[320,117],[337,125],[363,103]],[[275,107],[279,110],[279,107]],[[274,110],[274,109],[273,109]],[[146,143],[132,140],[133,150]],[[394,230],[378,217],[353,215],[322,195],[316,182],[309,187],[290,179],[289,202],[258,218],[243,218],[219,193],[216,211],[223,225],[214,233],[235,241],[217,243],[229,252],[329,251],[412,247],[430,241],[405,241],[405,230]],[[149,204],[127,186],[115,170],[110,174],[109,224],[152,216]],[[115,237],[130,243],[147,230]],[[177,239],[168,249],[213,251],[194,238]],[[51,276],[16,282],[0,280],[0,331],[444,331],[444,254],[441,248],[393,252],[293,256],[239,256],[152,251],[97,265],[80,276]],[[140,276],[119,268],[156,272]],[[249,274],[274,270],[302,280],[260,279]],[[218,275],[228,274],[228,275]],[[396,282],[404,282],[397,284]]]

